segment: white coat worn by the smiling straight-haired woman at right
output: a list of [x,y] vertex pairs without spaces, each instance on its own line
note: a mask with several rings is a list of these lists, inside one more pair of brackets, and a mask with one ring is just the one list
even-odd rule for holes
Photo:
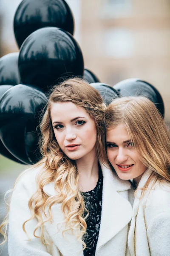
[[[151,171],[144,172],[138,188],[146,183]],[[150,186],[152,183],[150,183]],[[133,218],[128,235],[131,256],[170,256],[170,185],[159,182],[147,189],[133,204]]]

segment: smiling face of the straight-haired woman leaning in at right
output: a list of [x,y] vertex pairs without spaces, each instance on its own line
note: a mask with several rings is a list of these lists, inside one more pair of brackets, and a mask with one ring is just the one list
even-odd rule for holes
[[134,148],[125,126],[117,125],[108,130],[106,140],[108,159],[119,178],[139,182],[147,168],[141,162],[139,152]]

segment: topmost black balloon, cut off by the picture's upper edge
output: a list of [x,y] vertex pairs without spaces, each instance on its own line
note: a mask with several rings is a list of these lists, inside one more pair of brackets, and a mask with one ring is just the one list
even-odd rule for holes
[[14,17],[14,34],[20,48],[37,29],[54,26],[73,35],[74,17],[65,0],[23,0]]

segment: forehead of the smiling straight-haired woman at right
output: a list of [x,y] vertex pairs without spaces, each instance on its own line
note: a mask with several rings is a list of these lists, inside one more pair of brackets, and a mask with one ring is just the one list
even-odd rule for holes
[[130,140],[127,129],[123,124],[117,125],[116,127],[109,129],[106,133],[106,137],[108,141],[112,142],[122,142],[125,140]]

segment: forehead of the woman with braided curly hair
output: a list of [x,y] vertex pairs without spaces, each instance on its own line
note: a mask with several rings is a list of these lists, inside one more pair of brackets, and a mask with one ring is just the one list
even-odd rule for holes
[[51,105],[51,119],[73,119],[77,116],[88,117],[87,111],[84,108],[75,105],[72,102],[57,102]]

